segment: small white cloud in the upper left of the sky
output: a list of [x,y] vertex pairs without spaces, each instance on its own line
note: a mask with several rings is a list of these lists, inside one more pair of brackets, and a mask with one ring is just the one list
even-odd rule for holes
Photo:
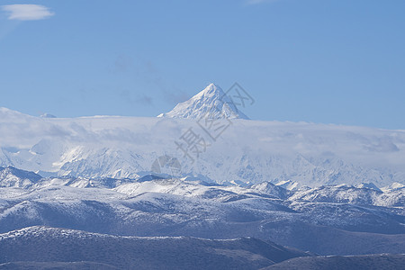
[[2,10],[8,13],[9,20],[18,21],[42,20],[54,15],[48,7],[40,4],[6,4]]

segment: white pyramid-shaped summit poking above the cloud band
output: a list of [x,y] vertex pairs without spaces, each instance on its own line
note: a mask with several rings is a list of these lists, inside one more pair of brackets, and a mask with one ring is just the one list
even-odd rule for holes
[[200,93],[184,103],[178,103],[175,108],[157,117],[200,119],[249,119],[237,108],[220,86],[208,85]]

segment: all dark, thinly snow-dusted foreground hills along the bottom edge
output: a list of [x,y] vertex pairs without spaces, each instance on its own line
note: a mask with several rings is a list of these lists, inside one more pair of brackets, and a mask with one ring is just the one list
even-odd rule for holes
[[31,227],[0,234],[0,269],[404,269],[405,255],[315,257],[256,238],[137,238]]

